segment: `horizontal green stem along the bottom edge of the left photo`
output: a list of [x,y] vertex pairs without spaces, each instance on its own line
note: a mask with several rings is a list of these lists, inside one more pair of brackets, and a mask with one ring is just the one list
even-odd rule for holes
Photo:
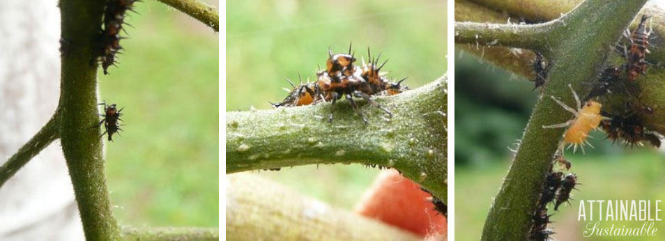
[[220,240],[219,228],[122,228],[123,240]]

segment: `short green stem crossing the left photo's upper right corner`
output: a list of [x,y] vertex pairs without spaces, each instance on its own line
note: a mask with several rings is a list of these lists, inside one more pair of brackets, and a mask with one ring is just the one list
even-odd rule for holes
[[158,0],[172,8],[176,8],[190,17],[199,20],[213,30],[220,31],[220,14],[217,9],[197,0]]

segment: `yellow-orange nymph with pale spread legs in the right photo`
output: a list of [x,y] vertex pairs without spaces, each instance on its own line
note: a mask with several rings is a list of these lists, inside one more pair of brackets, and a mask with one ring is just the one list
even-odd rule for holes
[[[603,120],[603,116],[600,114],[600,108],[602,104],[595,102],[593,100],[588,100],[582,105],[579,101],[577,93],[573,90],[572,86],[568,84],[570,91],[572,91],[577,103],[577,109],[568,107],[566,104],[551,96],[552,100],[556,101],[563,109],[570,111],[574,115],[574,118],[566,121],[565,123],[555,124],[555,125],[544,125],[543,128],[560,128],[568,127],[568,130],[563,134],[564,143],[568,143],[574,146],[573,151],[577,150],[577,146],[581,146],[582,152],[584,151],[584,143],[587,143],[591,146],[586,137],[588,137],[589,132],[596,129],[600,124],[600,121]],[[591,146],[593,148],[593,146]]]

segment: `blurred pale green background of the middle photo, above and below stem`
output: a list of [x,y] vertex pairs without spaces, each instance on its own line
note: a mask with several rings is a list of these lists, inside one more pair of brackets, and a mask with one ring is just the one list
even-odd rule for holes
[[[408,77],[417,88],[446,71],[446,3],[423,1],[229,1],[227,2],[227,111],[271,108],[286,97],[284,80],[316,78],[328,47],[356,56],[383,52],[390,79]],[[360,58],[359,58],[360,59]],[[344,100],[346,101],[346,100]],[[296,166],[261,171],[309,196],[352,208],[378,169]]]

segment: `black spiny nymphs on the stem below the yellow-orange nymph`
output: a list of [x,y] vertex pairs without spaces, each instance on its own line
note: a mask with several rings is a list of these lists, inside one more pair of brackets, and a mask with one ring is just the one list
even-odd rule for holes
[[[555,165],[560,166],[558,168],[560,171],[554,171]],[[549,236],[554,234],[554,231],[547,227],[551,223],[549,218],[554,215],[547,212],[547,206],[552,203],[554,210],[557,211],[561,204],[570,203],[570,192],[578,185],[577,176],[574,173],[563,173],[568,171],[570,166],[570,162],[565,160],[562,155],[557,153],[554,156],[553,163],[546,173],[537,208],[531,216],[533,224],[529,231],[528,240],[550,240]]]

